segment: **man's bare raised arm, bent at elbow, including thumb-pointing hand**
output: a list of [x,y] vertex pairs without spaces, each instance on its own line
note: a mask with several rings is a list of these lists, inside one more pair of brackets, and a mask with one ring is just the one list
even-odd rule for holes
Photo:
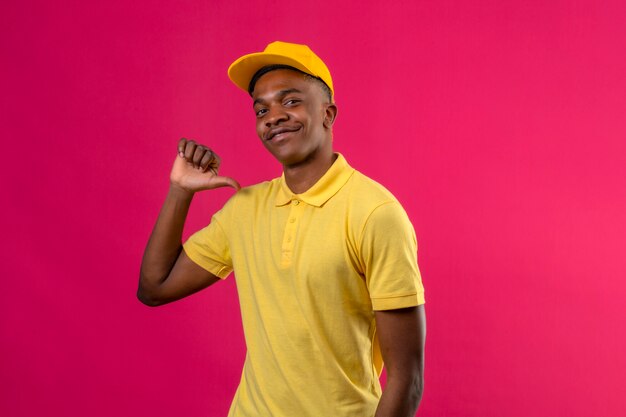
[[137,298],[157,306],[186,297],[217,282],[183,251],[182,234],[193,195],[218,187],[239,189],[232,178],[218,176],[219,157],[205,146],[181,139],[170,174],[170,189],[146,245]]

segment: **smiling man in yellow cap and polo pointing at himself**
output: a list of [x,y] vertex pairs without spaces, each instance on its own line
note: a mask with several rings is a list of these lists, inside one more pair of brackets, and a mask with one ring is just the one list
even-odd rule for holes
[[[211,149],[182,139],[139,299],[174,301],[234,270],[248,353],[230,417],[413,416],[425,338],[415,234],[397,200],[333,152],[328,68],[274,42],[229,76],[283,175],[240,189]],[[181,245],[194,193],[223,186],[238,192]]]

